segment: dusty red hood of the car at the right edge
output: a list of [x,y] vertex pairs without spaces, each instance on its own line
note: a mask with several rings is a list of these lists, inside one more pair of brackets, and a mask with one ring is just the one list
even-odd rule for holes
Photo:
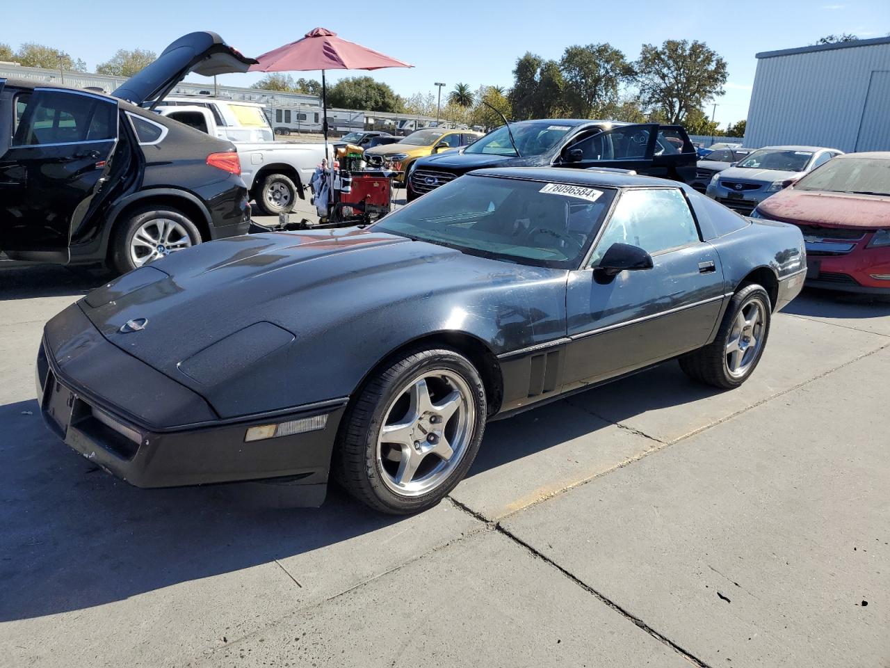
[[762,201],[757,211],[784,223],[867,229],[890,227],[890,197],[792,188]]

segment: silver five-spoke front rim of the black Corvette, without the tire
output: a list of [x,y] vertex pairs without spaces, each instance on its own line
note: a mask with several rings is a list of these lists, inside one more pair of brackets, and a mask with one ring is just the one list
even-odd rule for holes
[[384,413],[377,467],[392,492],[419,496],[441,485],[473,438],[475,404],[466,381],[435,369],[405,384]]

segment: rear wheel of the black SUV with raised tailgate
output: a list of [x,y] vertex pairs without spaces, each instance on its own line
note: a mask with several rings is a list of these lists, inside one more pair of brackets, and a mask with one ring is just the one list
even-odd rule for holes
[[182,211],[163,205],[141,208],[117,226],[111,265],[126,273],[200,242],[201,233]]

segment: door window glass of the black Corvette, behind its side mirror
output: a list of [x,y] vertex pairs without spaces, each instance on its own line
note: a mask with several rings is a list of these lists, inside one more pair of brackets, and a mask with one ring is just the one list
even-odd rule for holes
[[624,191],[612,212],[590,265],[613,243],[639,246],[648,253],[679,248],[699,240],[699,231],[683,193],[676,188]]

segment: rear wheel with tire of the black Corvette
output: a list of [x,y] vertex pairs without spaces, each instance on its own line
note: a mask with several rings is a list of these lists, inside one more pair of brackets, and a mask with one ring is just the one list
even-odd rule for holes
[[681,357],[680,368],[707,385],[739,387],[764,354],[771,320],[766,290],[756,283],[744,286],[732,296],[714,341]]

